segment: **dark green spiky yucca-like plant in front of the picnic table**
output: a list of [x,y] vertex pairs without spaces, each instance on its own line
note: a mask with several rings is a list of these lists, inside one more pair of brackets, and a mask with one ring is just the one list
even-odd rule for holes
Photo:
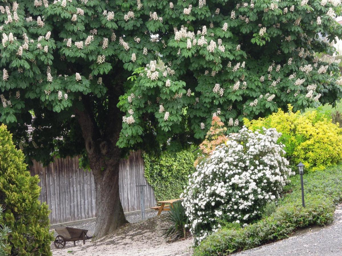
[[185,214],[181,200],[174,202],[173,207],[170,207],[170,211],[163,218],[171,224],[169,228],[163,230],[162,235],[165,237],[165,240],[175,241],[189,236],[189,218]]

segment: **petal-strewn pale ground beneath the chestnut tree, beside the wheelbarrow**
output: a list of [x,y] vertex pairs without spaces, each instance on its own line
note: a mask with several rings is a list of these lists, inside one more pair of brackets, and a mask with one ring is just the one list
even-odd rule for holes
[[97,241],[67,242],[63,249],[53,248],[53,255],[192,255],[193,239],[168,243],[161,236],[168,224],[162,216],[156,216],[137,223],[129,223]]

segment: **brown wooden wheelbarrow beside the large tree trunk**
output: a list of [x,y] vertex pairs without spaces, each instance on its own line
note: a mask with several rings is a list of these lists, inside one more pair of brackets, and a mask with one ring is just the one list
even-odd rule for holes
[[65,246],[65,242],[74,242],[74,246],[76,246],[76,241],[83,241],[83,244],[86,243],[86,240],[93,238],[93,236],[87,236],[87,229],[79,229],[79,228],[56,228],[58,236],[56,236],[53,244],[57,249],[62,249]]

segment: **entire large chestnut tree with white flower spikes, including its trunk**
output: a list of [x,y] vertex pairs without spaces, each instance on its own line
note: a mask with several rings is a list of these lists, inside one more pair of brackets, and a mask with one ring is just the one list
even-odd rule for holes
[[339,0],[1,1],[0,122],[28,158],[85,153],[99,238],[126,222],[129,149],[199,141],[213,114],[231,132],[288,103],[334,103],[340,12]]

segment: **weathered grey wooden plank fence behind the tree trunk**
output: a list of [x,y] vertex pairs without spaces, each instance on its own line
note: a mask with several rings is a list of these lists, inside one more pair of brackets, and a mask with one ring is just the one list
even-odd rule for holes
[[[90,171],[79,168],[78,159],[78,156],[55,158],[47,167],[34,161],[30,169],[31,175],[40,177],[39,199],[49,205],[51,224],[96,217],[94,177]],[[144,177],[141,152],[132,152],[128,159],[121,159],[119,168],[119,191],[124,212],[140,210],[136,185],[146,185],[145,208],[155,206],[153,188]]]

